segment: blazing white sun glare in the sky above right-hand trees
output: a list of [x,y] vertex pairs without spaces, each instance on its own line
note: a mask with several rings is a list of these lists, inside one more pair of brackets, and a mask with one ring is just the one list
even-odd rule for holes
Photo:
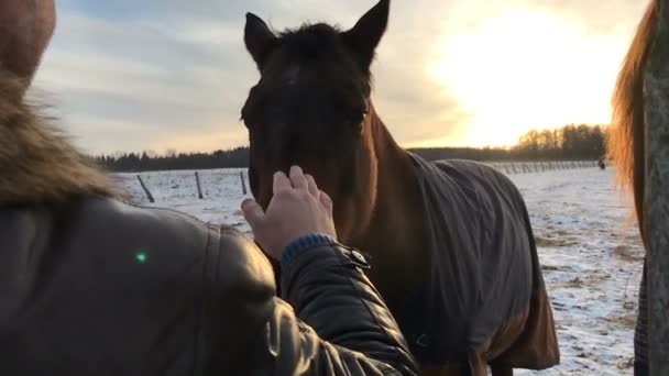
[[624,45],[547,11],[513,10],[440,38],[427,74],[472,114],[456,144],[514,145],[530,129],[608,123]]

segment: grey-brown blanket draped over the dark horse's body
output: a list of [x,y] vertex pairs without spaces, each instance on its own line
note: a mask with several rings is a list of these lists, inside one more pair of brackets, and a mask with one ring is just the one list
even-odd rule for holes
[[427,215],[430,269],[415,305],[395,313],[415,356],[434,365],[467,362],[473,353],[522,368],[559,363],[518,189],[483,164],[412,157]]

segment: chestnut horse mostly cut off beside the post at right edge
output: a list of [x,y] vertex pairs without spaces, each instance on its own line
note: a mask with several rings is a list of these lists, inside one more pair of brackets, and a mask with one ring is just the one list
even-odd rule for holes
[[[644,119],[644,69],[657,33],[659,0],[651,0],[625,55],[612,96],[613,119],[607,153],[617,168],[618,184],[632,189],[644,245],[648,245],[644,195],[646,190],[646,129]],[[648,375],[648,308],[646,263],[639,289],[638,318],[634,336],[635,375]]]

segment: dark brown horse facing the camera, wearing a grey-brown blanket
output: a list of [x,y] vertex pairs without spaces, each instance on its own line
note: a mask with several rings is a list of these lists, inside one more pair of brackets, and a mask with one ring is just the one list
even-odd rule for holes
[[278,34],[246,14],[260,71],[241,110],[252,193],[266,208],[273,173],[294,164],[315,177],[424,374],[553,366],[552,310],[517,188],[485,165],[403,150],[374,108],[371,66],[388,14],[381,0],[347,31]]

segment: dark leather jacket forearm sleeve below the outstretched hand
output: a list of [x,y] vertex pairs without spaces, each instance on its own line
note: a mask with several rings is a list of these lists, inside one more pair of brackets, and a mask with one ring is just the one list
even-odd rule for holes
[[368,267],[339,244],[303,250],[284,263],[282,295],[301,321],[277,302],[274,320],[285,319],[273,330],[292,333],[285,345],[300,344],[295,358],[282,360],[304,367],[295,374],[418,375],[397,323],[362,273]]

